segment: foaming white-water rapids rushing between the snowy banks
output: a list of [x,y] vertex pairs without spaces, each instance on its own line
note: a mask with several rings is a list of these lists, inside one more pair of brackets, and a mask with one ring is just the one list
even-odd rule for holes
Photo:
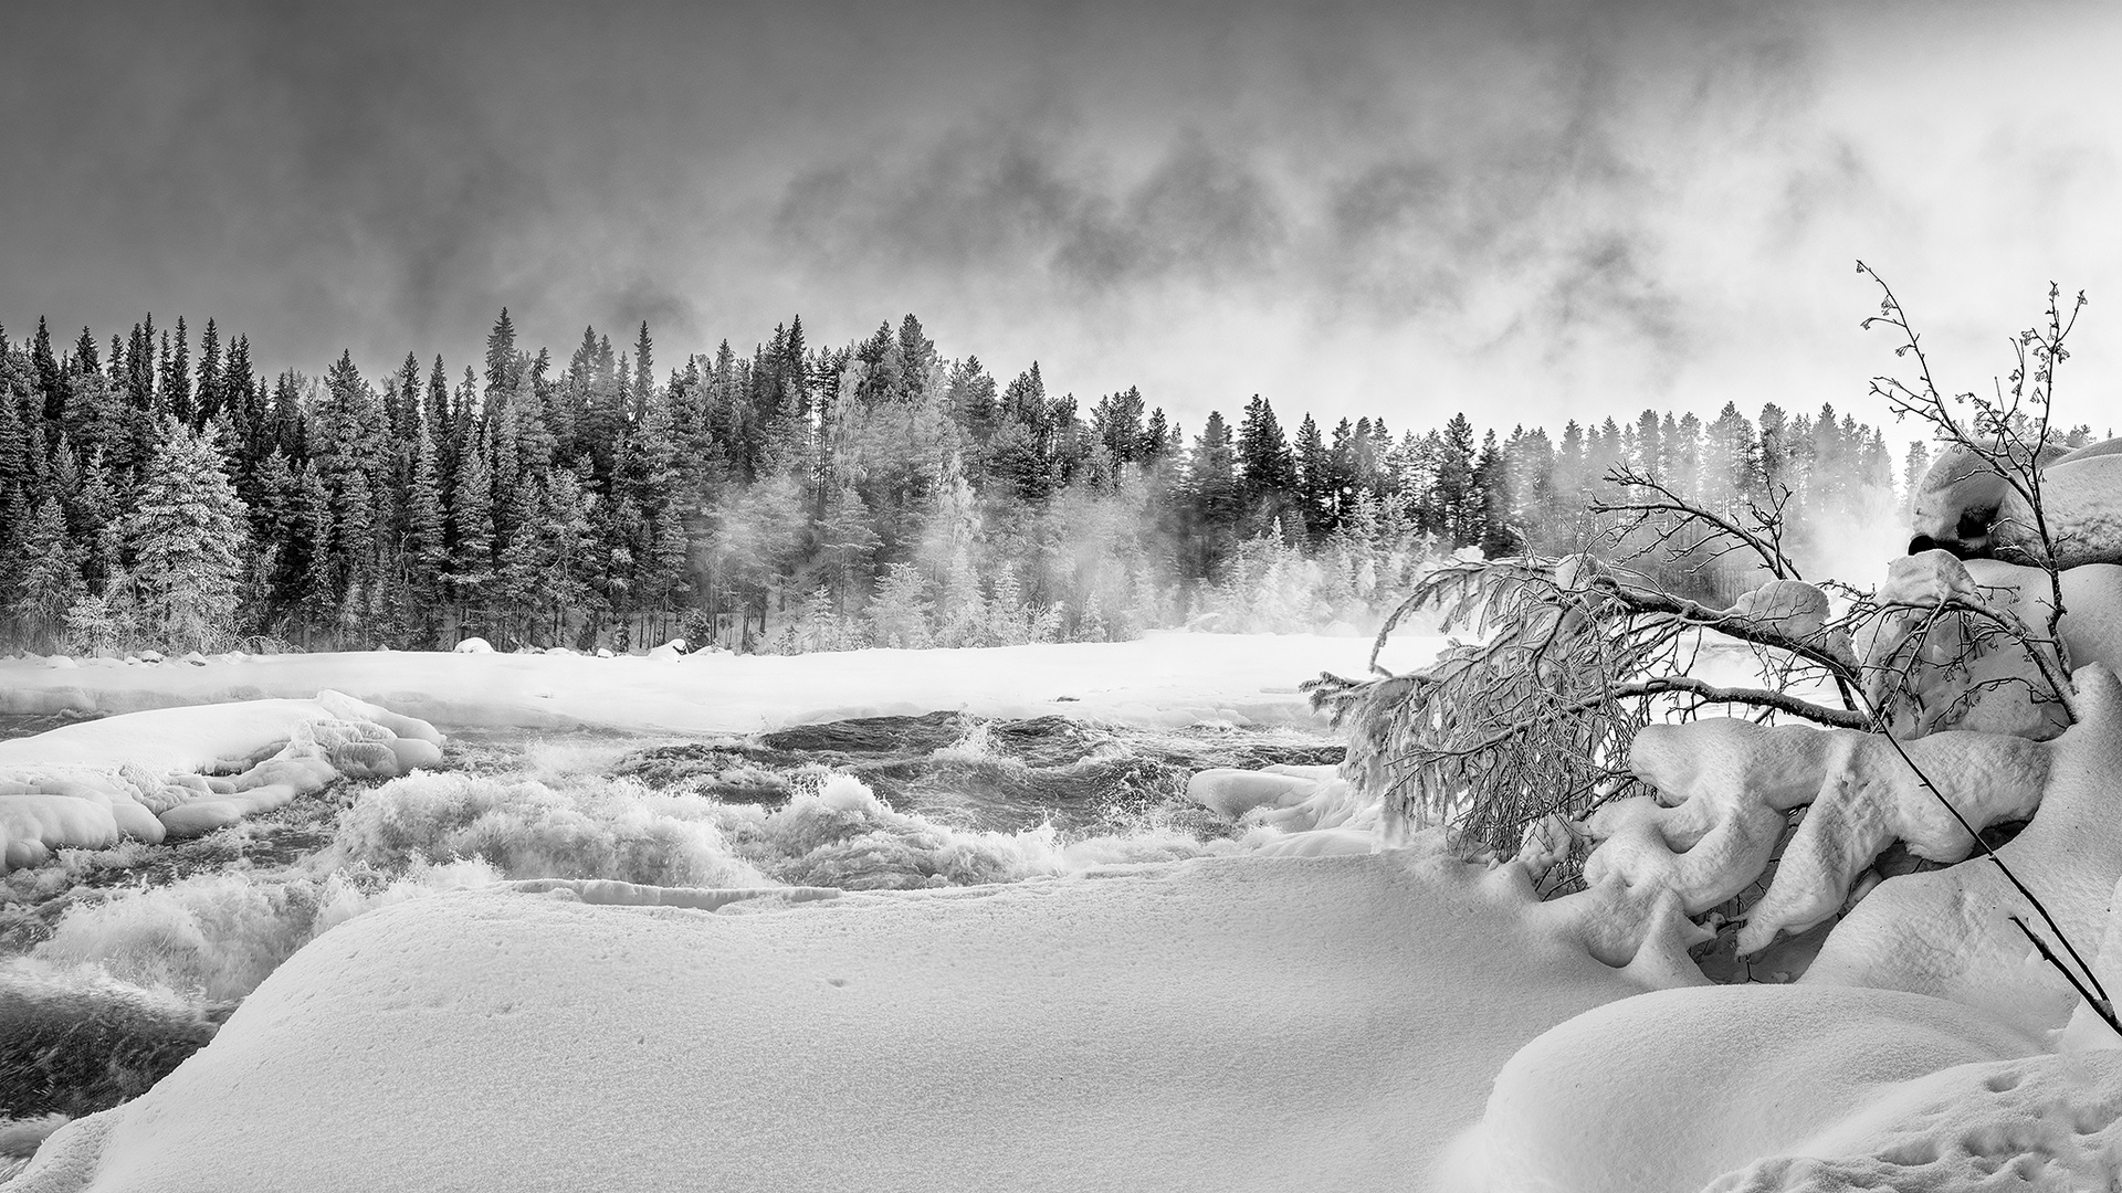
[[[0,720],[0,737],[55,728]],[[1207,766],[1328,764],[1292,728],[864,717],[753,737],[452,734],[437,773],[337,783],[195,841],[0,879],[0,1119],[138,1095],[318,932],[494,879],[849,889],[1233,851]]]

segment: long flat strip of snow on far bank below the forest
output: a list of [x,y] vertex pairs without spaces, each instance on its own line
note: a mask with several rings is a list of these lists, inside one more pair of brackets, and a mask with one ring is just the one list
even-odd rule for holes
[[[1413,667],[1437,647],[1439,639],[1396,639],[1386,662]],[[1322,669],[1362,673],[1369,652],[1369,639],[1152,633],[1123,643],[798,656],[359,652],[81,669],[0,660],[0,713],[136,711],[333,688],[439,726],[758,732],[940,709],[1131,724],[1314,724],[1297,686]]]

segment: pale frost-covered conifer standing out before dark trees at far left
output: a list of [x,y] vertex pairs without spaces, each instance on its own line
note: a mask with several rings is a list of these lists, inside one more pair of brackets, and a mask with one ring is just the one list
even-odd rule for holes
[[212,437],[163,422],[153,465],[125,516],[140,613],[170,650],[212,650],[236,618],[244,503]]

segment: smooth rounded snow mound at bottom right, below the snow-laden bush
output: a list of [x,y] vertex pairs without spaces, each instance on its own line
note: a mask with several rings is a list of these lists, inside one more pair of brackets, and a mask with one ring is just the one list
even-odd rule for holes
[[1861,1119],[1880,1087],[2035,1053],[2033,1038],[1986,1015],[1914,993],[1653,991],[1587,1010],[1511,1057],[1439,1187],[1695,1191]]

